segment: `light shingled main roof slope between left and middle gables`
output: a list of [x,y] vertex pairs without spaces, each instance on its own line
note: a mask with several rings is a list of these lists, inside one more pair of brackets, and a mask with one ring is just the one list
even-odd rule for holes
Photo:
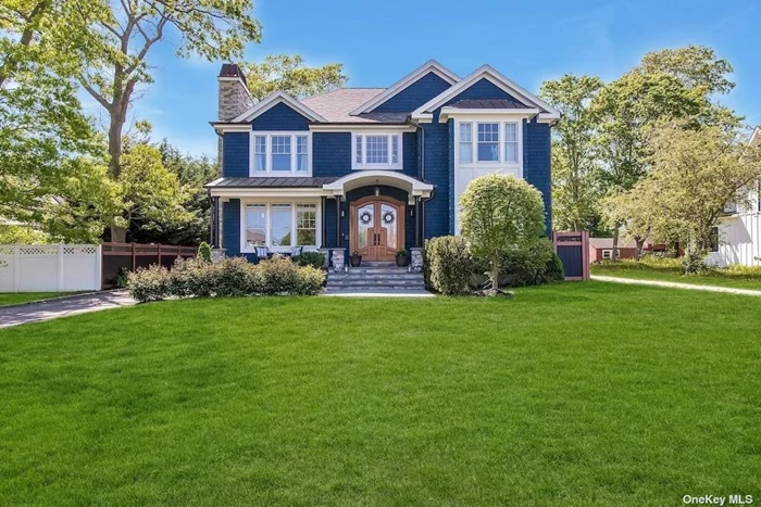
[[385,88],[341,88],[314,97],[308,97],[300,102],[330,123],[399,123],[407,121],[408,113],[366,113],[351,116],[349,113],[364,104]]

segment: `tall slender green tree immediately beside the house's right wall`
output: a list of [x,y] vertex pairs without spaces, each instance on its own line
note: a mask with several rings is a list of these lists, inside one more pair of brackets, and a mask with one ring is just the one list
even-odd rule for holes
[[540,96],[561,113],[552,130],[552,218],[560,230],[584,230],[596,215],[598,118],[590,104],[601,88],[599,77],[570,74],[541,86]]

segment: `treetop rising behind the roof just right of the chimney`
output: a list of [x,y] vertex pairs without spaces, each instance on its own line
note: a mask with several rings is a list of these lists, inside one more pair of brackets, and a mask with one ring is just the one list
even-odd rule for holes
[[257,100],[278,90],[298,98],[335,90],[346,84],[342,67],[340,63],[308,67],[303,58],[287,54],[266,56],[262,63],[241,64],[248,89]]

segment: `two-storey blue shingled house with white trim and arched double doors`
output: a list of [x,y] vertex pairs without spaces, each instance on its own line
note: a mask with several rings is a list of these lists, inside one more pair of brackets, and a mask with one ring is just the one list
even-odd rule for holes
[[429,61],[388,88],[344,88],[251,104],[237,65],[219,76],[221,177],[207,188],[212,242],[226,254],[349,252],[365,261],[413,254],[459,232],[469,181],[523,178],[551,220],[550,128],[560,117],[489,65],[459,77]]

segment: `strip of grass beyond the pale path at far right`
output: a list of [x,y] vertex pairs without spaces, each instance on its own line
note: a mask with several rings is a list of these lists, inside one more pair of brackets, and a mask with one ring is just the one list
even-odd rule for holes
[[592,275],[634,278],[636,280],[673,281],[695,286],[719,286],[732,287],[735,289],[761,290],[761,279],[758,276],[745,277],[741,274],[715,271],[708,276],[687,277],[682,275],[682,272],[675,268],[645,264],[636,266],[633,262],[620,264],[592,264],[590,266],[590,272]]

